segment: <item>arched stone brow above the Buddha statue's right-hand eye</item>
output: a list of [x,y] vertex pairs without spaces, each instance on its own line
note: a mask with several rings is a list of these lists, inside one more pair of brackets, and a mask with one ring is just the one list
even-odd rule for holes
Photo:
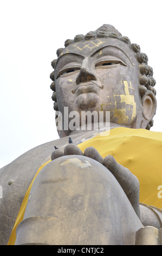
[[[132,66],[133,63],[131,61],[131,59],[127,56],[127,54],[121,50],[121,48],[117,47],[117,46],[112,46],[112,45],[108,45],[108,46],[105,46],[103,48],[100,48],[99,50],[97,50],[96,52],[92,53],[92,55],[90,57],[95,57],[96,54],[98,54],[99,52],[103,51],[103,50],[106,50],[107,48],[107,52],[103,52],[103,56],[106,56],[106,55],[112,55],[114,57],[119,57],[118,55],[118,52],[120,51],[120,53],[122,54],[123,57],[126,57],[129,62],[131,63]],[[117,52],[114,52],[113,50],[118,50]],[[119,57],[120,58],[120,57]]]

